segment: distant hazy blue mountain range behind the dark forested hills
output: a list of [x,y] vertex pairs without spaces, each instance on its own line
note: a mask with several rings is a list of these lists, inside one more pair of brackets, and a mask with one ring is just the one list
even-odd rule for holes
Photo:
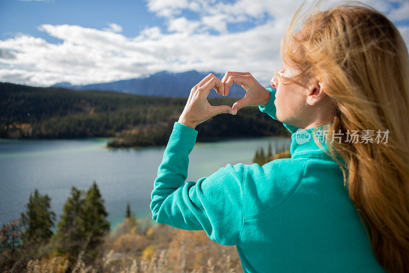
[[[168,71],[157,72],[149,77],[141,77],[127,80],[118,80],[92,85],[71,85],[69,82],[56,83],[52,87],[60,87],[83,90],[109,90],[129,94],[163,96],[163,97],[189,97],[190,90],[210,73],[221,79],[224,75],[214,72],[197,72],[196,70],[172,73]],[[233,85],[229,91],[229,97],[241,98],[245,90],[239,85]],[[222,97],[212,90],[209,97]]]

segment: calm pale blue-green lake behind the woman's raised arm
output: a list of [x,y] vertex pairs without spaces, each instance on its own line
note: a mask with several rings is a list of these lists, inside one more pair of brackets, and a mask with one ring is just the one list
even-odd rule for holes
[[[106,148],[106,138],[0,139],[0,223],[19,218],[35,188],[51,197],[57,215],[71,187],[83,190],[95,180],[105,200],[111,228],[125,218],[126,203],[137,218],[152,217],[153,182],[166,146]],[[241,138],[197,142],[189,156],[188,181],[197,181],[230,163],[251,164],[260,147],[289,149],[290,138]]]

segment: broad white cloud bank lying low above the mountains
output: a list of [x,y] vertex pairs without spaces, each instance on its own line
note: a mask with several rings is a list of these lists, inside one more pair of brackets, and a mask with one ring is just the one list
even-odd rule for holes
[[62,43],[51,44],[29,35],[0,40],[0,48],[12,49],[15,56],[0,59],[8,66],[0,80],[16,82],[20,78],[20,83],[35,86],[61,81],[86,84],[192,69],[251,71],[265,78],[265,68],[270,71],[279,61],[280,34],[271,33],[275,29],[272,24],[224,35],[164,34],[154,27],[134,38],[71,25],[41,25],[39,29]]

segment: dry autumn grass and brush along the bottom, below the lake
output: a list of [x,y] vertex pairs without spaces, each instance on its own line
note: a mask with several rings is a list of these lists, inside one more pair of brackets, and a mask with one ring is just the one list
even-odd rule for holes
[[[236,247],[210,240],[204,230],[141,227],[144,221],[125,219],[105,238],[100,259],[86,265],[80,254],[71,272],[243,272]],[[67,256],[50,256],[31,260],[27,271],[65,272],[68,266]]]

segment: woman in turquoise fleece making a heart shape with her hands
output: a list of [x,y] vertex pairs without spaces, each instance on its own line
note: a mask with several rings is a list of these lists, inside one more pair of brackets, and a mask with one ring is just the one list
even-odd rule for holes
[[[407,272],[407,48],[367,6],[313,12],[294,35],[300,9],[272,88],[227,72],[191,90],[154,182],[153,219],[236,245],[245,272]],[[210,106],[209,92],[226,96],[233,83],[245,97],[232,108]],[[196,125],[247,106],[284,123],[291,158],[227,164],[184,183]]]

